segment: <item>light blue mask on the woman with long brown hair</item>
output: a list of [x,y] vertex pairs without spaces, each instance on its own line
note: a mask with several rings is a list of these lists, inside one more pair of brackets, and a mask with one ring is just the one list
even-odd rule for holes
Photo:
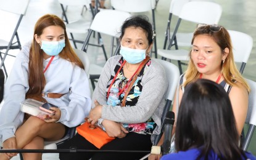
[[62,49],[65,47],[65,39],[62,39],[60,41],[41,41],[41,42],[42,42],[41,49],[43,49],[47,55],[51,55],[51,56],[58,55],[62,51]]

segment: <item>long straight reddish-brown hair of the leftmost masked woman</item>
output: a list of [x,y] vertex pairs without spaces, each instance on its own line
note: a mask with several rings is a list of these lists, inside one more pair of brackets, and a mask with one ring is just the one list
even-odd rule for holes
[[[65,23],[62,19],[56,15],[46,14],[43,17],[39,18],[36,22],[34,35],[37,34],[40,36],[43,34],[44,28],[48,26],[60,26],[64,29],[65,33],[65,47],[60,52],[59,57],[68,60],[74,65],[80,66],[80,68],[85,69],[81,60],[77,57],[70,42],[68,41],[67,31]],[[43,73],[43,50],[36,42],[35,36],[33,38],[32,45],[30,47],[30,61],[28,63],[28,84],[30,89],[26,95],[40,95],[46,84],[46,79],[44,78]]]

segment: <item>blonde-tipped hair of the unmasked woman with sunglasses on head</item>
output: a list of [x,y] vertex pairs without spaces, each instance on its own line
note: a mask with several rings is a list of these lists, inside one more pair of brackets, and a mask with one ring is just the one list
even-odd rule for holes
[[[249,92],[249,85],[247,84],[246,80],[242,78],[241,73],[239,73],[239,71],[236,68],[236,64],[234,63],[233,46],[231,43],[229,33],[223,26],[220,27],[220,31],[211,31],[210,25],[204,26],[203,28],[200,28],[200,30],[194,31],[194,36],[192,38],[191,44],[194,43],[194,39],[196,38],[196,36],[200,34],[205,34],[209,35],[218,44],[218,46],[220,46],[221,50],[225,50],[225,48],[228,48],[229,54],[225,59],[225,63],[221,62],[220,64],[223,78],[225,79],[226,83],[228,83],[231,86],[236,86],[236,81],[240,82],[244,87],[246,87],[246,89]],[[190,82],[195,81],[195,79],[198,79],[200,74],[192,61],[191,52],[192,50],[190,50],[189,52],[188,69],[184,74],[186,78],[186,81],[183,82],[184,87],[188,85]]]

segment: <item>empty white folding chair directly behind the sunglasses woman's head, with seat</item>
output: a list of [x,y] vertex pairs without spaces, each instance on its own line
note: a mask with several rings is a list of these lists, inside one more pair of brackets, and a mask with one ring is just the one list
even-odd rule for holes
[[[217,24],[220,20],[222,13],[221,6],[215,2],[210,1],[191,1],[186,2],[181,11],[178,18],[178,22],[176,23],[175,30],[173,31],[173,35],[171,36],[171,40],[168,44],[167,49],[158,49],[158,54],[163,58],[167,58],[170,60],[178,60],[180,74],[182,73],[181,68],[181,60],[188,60],[188,50],[178,49],[170,50],[171,46],[173,46],[173,42],[176,39],[176,34],[178,33],[178,28],[180,26],[181,20],[186,20],[188,22],[193,23],[205,23],[205,24]],[[189,33],[191,34],[191,33]],[[188,38],[188,36],[187,36]],[[191,41],[192,39],[190,39]]]

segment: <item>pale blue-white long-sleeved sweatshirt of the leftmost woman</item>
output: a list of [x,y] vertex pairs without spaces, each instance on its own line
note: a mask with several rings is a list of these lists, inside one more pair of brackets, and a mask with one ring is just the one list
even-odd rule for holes
[[[0,113],[0,142],[15,137],[14,133],[23,122],[24,113],[20,111],[20,102],[25,100],[28,86],[28,62],[30,44],[15,58],[14,66],[4,86],[4,105]],[[44,68],[49,60],[44,60]],[[47,98],[47,102],[59,106],[59,122],[74,127],[84,121],[91,110],[91,93],[85,70],[73,63],[54,57],[44,73],[46,85],[43,92],[65,94],[60,98]]]

